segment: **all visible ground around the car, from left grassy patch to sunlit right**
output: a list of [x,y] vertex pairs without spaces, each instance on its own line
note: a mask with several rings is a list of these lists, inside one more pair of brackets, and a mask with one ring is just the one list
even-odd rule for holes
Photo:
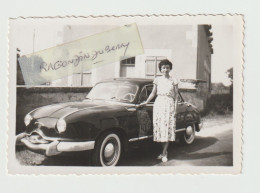
[[[232,166],[232,115],[207,117],[203,123],[203,129],[196,133],[193,144],[170,144],[168,162],[162,163],[156,159],[161,146],[152,142],[134,145],[121,159],[119,166]],[[47,158],[22,148],[16,155],[22,165],[90,165],[89,154],[86,153]]]

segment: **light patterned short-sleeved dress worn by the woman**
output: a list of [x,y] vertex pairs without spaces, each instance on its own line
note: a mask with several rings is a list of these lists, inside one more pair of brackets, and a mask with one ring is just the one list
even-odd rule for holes
[[153,140],[175,141],[176,119],[173,113],[178,81],[171,77],[158,77],[153,83],[157,85],[157,98],[153,107]]

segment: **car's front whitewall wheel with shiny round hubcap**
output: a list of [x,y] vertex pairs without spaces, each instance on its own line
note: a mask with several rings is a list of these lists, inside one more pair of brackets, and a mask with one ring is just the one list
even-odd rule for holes
[[116,133],[102,135],[96,142],[92,163],[95,166],[115,166],[121,156],[121,140]]

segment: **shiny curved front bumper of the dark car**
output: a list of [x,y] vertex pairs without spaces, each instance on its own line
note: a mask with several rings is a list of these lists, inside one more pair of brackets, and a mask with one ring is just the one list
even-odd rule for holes
[[86,142],[65,142],[54,140],[50,143],[32,143],[27,139],[27,133],[21,133],[16,136],[16,144],[24,145],[33,151],[44,152],[47,156],[58,155],[62,152],[75,152],[92,150],[95,146],[95,141]]

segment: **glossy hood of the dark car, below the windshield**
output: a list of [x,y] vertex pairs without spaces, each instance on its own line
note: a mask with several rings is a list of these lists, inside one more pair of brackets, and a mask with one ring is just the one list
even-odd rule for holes
[[[88,109],[103,109],[111,104],[105,101],[81,101],[81,102],[69,102],[69,103],[59,103],[48,106],[40,107],[31,113],[34,119],[39,119],[43,117],[61,118],[67,116],[71,113],[88,110]],[[120,105],[121,106],[121,105]]]

